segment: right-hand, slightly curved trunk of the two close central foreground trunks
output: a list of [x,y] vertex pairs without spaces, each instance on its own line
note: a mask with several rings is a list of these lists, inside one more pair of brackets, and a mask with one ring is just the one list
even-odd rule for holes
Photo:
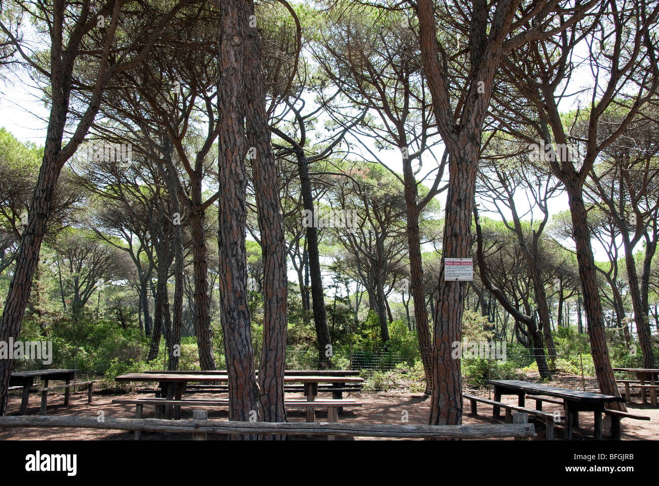
[[[241,3],[246,16],[254,14],[254,3]],[[262,421],[285,422],[284,370],[287,337],[287,258],[283,219],[279,207],[279,181],[266,114],[266,83],[261,45],[256,26],[248,27],[245,43],[246,121],[248,141],[255,148],[252,175],[258,227],[264,261],[263,348],[258,367]],[[284,436],[266,436],[284,439]]]

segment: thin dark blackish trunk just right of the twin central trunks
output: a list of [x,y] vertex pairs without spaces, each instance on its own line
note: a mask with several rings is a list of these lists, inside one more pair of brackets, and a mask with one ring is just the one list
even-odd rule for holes
[[[314,199],[311,190],[311,179],[309,176],[309,165],[303,151],[297,153],[298,174],[302,192],[302,204],[304,209],[314,211]],[[320,253],[318,252],[318,229],[311,225],[306,228],[306,246],[311,277],[311,300],[314,308],[314,325],[316,326],[316,338],[318,339],[318,367],[329,369],[331,365],[331,338],[327,313],[325,310],[325,294],[323,292],[323,280],[320,273]]]

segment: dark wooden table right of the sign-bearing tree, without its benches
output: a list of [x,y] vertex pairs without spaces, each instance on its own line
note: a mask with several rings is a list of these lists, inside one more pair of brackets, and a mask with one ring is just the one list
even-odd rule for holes
[[[501,401],[502,395],[517,395],[519,406],[524,406],[527,393],[534,395],[555,396],[563,398],[565,408],[565,439],[572,439],[572,428],[579,427],[579,412],[593,412],[595,418],[594,437],[602,439],[602,414],[604,405],[610,402],[624,402],[621,396],[604,395],[568,388],[550,387],[521,380],[487,380],[494,385],[494,400]],[[494,418],[499,417],[499,407],[494,407]]]

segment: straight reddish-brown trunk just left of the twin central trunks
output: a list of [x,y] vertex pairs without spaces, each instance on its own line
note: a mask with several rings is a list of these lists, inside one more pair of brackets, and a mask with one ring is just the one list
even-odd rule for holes
[[202,178],[192,184],[192,209],[190,209],[190,233],[192,235],[192,267],[194,272],[194,322],[199,350],[199,366],[203,370],[215,369],[213,356],[213,330],[208,308],[208,262],[206,261],[206,230],[202,208]]

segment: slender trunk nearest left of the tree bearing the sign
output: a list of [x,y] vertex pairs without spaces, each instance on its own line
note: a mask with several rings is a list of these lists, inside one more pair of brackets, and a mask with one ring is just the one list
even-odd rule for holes
[[[426,308],[426,291],[421,261],[421,237],[418,229],[419,211],[416,203],[418,191],[409,157],[403,159],[403,177],[405,178],[405,205],[407,207],[407,246],[409,248],[411,294],[414,299],[418,347],[426,375],[425,393],[430,394],[432,390],[432,340],[430,338],[430,327],[428,326],[428,308]],[[409,292],[409,290],[405,289],[406,292]]]

